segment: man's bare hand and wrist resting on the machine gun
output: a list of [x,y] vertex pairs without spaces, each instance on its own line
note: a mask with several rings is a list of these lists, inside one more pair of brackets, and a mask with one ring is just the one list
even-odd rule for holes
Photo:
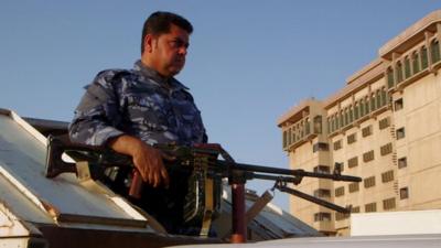
[[117,137],[109,144],[115,151],[132,157],[133,164],[144,182],[153,187],[161,184],[169,185],[169,173],[163,159],[173,160],[173,158],[131,136]]

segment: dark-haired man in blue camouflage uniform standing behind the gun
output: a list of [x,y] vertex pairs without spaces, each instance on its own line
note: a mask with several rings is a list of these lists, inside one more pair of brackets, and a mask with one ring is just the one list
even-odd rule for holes
[[[100,72],[86,86],[69,126],[73,142],[108,145],[132,157],[143,181],[155,188],[148,191],[150,195],[139,204],[169,233],[180,233],[175,226],[182,219],[169,223],[169,218],[181,214],[176,205],[183,201],[185,182],[170,182],[171,172],[165,170],[163,159],[172,158],[152,145],[207,141],[193,97],[173,77],[185,65],[192,32],[192,24],[178,14],[152,13],[142,31],[141,60],[133,69]],[[181,200],[176,201],[175,194]]]

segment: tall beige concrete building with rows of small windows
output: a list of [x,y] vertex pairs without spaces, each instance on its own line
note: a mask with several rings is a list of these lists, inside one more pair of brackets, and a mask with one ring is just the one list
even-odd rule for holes
[[[387,42],[340,91],[278,120],[292,169],[332,173],[338,162],[363,179],[304,179],[299,190],[353,213],[441,208],[440,41],[438,10]],[[290,211],[324,234],[349,233],[347,215],[295,197]]]

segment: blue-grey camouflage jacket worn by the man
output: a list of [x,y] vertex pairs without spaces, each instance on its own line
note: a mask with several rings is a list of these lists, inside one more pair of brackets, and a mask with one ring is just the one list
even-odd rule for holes
[[72,141],[105,145],[123,133],[149,144],[206,142],[201,112],[187,88],[140,61],[133,69],[100,72],[86,86],[69,125]]

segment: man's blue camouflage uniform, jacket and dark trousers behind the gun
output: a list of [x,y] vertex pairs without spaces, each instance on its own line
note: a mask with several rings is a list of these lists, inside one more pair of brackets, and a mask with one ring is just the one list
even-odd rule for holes
[[[140,61],[133,69],[99,73],[86,86],[68,129],[73,142],[88,145],[106,145],[109,139],[123,133],[149,144],[207,141],[201,112],[187,88],[175,78],[162,78]],[[105,183],[127,195],[126,179],[131,171],[119,171],[117,180]],[[169,233],[187,234],[189,227],[182,226],[190,174],[180,166],[169,166],[168,172],[168,188],[144,185],[141,200],[130,201],[154,216]]]

